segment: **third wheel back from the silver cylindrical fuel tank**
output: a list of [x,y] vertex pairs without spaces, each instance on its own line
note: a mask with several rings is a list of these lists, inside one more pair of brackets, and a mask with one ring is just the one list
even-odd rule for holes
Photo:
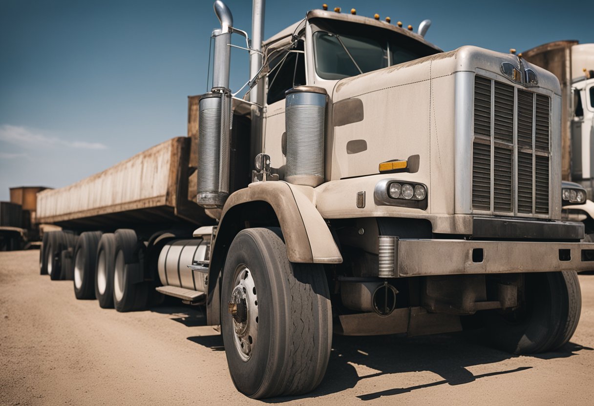
[[101,231],[89,231],[78,237],[74,248],[74,295],[77,299],[95,299],[95,269]]

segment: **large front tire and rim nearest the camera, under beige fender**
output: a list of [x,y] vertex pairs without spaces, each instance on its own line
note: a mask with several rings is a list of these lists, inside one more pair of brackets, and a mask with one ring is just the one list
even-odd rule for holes
[[329,297],[324,269],[291,264],[274,231],[237,234],[223,272],[221,323],[240,392],[260,399],[304,394],[320,384],[332,340]]

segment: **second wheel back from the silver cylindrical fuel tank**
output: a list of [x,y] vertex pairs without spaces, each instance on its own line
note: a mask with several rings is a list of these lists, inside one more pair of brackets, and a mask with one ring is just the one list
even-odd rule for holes
[[115,234],[103,234],[97,246],[95,261],[95,297],[103,309],[113,307],[113,258],[115,256]]

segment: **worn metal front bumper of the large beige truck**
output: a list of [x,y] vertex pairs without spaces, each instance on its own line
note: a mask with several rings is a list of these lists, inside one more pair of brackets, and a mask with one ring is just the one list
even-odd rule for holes
[[592,271],[594,243],[396,239],[397,277]]

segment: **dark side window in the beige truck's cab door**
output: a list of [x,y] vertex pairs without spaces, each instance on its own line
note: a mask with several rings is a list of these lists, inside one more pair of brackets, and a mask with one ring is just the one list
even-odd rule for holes
[[268,64],[270,68],[268,73],[268,97],[266,100],[268,104],[285,99],[285,91],[305,84],[303,50],[303,41],[298,41],[295,48],[280,53]]

